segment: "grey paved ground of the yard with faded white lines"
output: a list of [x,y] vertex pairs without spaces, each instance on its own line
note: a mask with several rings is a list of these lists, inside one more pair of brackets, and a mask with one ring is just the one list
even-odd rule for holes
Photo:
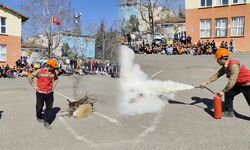
[[[250,68],[250,53],[235,54]],[[219,69],[213,56],[137,55],[136,63],[153,79],[199,85]],[[223,77],[209,85],[221,90]],[[1,150],[249,150],[250,108],[236,97],[235,118],[213,118],[212,98],[206,89],[176,93],[159,113],[126,117],[117,110],[119,79],[107,76],[60,77],[56,87],[52,130],[35,119],[35,91],[27,79],[0,79]],[[60,117],[65,97],[94,93],[96,113],[88,118]]]

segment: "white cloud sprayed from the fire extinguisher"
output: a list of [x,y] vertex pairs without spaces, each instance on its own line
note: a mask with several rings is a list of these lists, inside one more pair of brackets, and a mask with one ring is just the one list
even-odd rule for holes
[[194,88],[173,81],[152,80],[138,64],[134,64],[134,52],[131,49],[121,46],[120,52],[122,68],[119,110],[123,115],[158,112],[169,99],[174,99],[176,91]]

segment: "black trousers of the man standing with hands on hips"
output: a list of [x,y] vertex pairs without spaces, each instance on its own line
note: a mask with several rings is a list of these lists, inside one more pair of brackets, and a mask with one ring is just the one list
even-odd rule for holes
[[[38,119],[44,119],[45,122],[49,122],[51,110],[54,102],[54,93],[49,94],[36,92],[36,117]],[[44,103],[46,105],[44,114],[42,116]]]

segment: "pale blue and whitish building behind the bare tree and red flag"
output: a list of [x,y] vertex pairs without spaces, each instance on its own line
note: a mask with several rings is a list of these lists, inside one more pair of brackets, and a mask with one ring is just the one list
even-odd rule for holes
[[[95,58],[95,37],[86,35],[73,34],[68,32],[61,32],[53,34],[53,45],[56,47],[52,51],[53,57],[82,57],[82,58]],[[67,44],[68,54],[64,54],[63,46]],[[46,47],[48,47],[48,38],[45,35],[38,35],[29,37],[26,39],[25,45],[35,45],[40,49],[43,49],[41,54],[44,53]],[[53,46],[53,47],[54,47]],[[31,50],[33,51],[33,50]],[[72,56],[73,55],[73,56]]]

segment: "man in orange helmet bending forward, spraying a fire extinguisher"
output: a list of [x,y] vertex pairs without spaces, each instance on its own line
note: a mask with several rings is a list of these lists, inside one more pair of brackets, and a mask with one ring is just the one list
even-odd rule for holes
[[226,74],[228,83],[222,91],[217,92],[217,95],[225,95],[223,116],[234,117],[233,100],[236,95],[242,92],[250,106],[250,70],[240,61],[229,58],[229,51],[225,48],[218,49],[215,58],[222,68],[212,75],[208,81],[202,83],[200,87],[205,87]]

